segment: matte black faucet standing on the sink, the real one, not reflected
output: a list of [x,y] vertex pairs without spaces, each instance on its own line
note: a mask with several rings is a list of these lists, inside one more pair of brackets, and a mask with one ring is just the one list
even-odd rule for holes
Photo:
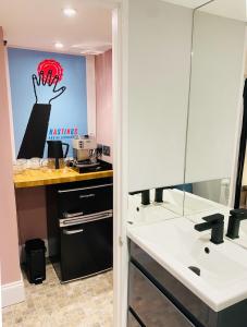
[[206,222],[195,225],[195,230],[201,232],[211,229],[210,241],[213,244],[221,244],[224,242],[224,216],[221,214],[214,214],[202,218]]

